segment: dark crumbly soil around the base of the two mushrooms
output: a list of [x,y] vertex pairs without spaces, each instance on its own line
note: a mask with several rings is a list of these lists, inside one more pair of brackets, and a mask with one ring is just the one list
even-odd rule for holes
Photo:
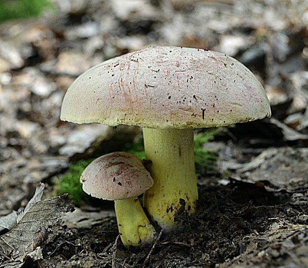
[[[119,241],[115,248],[118,231],[112,218],[91,228],[63,226],[44,246],[44,260],[25,267],[112,267],[112,262],[127,268],[308,266],[308,230],[300,228],[305,222],[297,217],[307,215],[308,207],[294,202],[292,193],[236,180],[224,186],[211,177],[199,181],[199,195],[196,213],[178,215],[181,231],[162,233],[147,261],[152,245],[127,250]],[[303,259],[294,257],[298,249],[304,249]]]

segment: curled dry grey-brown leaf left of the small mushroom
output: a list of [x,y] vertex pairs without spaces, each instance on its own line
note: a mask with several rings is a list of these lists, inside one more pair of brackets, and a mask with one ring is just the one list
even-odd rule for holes
[[[46,239],[47,232],[52,238],[54,226],[61,222],[62,214],[74,210],[67,195],[41,200],[44,188],[43,183],[36,187],[24,211],[17,218],[11,218],[11,222],[16,221],[17,224],[11,229],[12,225],[6,225],[8,232],[0,236],[1,268],[21,267],[27,257],[33,258],[34,250],[41,252],[38,248],[43,241],[40,240]],[[42,230],[45,230],[44,235]]]

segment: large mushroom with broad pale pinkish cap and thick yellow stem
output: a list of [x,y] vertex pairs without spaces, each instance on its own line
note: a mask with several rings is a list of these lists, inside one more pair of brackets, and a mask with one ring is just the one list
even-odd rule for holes
[[165,230],[180,208],[198,199],[193,129],[270,117],[258,79],[237,60],[215,51],[151,46],[98,64],[68,89],[61,119],[143,127],[154,186],[144,206]]

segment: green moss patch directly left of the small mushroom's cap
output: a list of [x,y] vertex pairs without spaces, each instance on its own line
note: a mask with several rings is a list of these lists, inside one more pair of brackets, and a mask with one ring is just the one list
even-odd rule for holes
[[79,206],[80,201],[88,203],[89,196],[83,192],[79,178],[84,168],[93,160],[79,160],[75,164],[72,164],[69,170],[60,178],[59,182],[54,181],[55,194],[62,195],[68,193],[76,206]]

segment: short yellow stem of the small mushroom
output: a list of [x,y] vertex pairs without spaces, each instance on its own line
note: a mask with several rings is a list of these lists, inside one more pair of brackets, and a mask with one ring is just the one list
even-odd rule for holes
[[121,240],[126,248],[140,247],[154,241],[156,232],[138,197],[114,201]]

